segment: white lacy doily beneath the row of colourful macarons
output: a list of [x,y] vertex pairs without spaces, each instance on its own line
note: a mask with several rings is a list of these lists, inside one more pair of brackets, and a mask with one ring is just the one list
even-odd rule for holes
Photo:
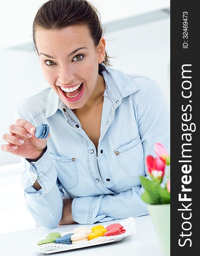
[[[133,217],[129,217],[123,221],[118,221],[116,223],[120,223],[124,229],[126,230],[125,233],[120,234],[120,235],[115,235],[115,236],[99,236],[97,238],[94,238],[90,241],[83,241],[83,242],[78,242],[76,244],[55,244],[55,243],[49,243],[49,244],[41,244],[37,245],[37,242],[41,239],[45,239],[48,234],[45,234],[43,237],[39,239],[35,239],[34,241],[34,251],[36,253],[55,253],[55,252],[60,252],[60,251],[65,251],[65,250],[73,250],[77,248],[82,248],[82,247],[88,247],[88,246],[93,246],[97,244],[106,244],[114,241],[120,241],[126,236],[130,236],[136,233],[136,227],[135,227],[135,221]],[[113,223],[112,223],[113,224]],[[96,224],[97,225],[97,224]],[[107,227],[109,224],[104,225],[103,227]],[[66,234],[73,233],[73,231],[69,232],[64,232],[60,233],[61,236],[64,236]]]

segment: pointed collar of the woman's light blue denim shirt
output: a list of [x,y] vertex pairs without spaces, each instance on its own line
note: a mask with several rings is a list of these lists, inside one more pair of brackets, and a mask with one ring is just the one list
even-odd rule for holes
[[[101,63],[99,73],[103,76],[106,84],[103,95],[107,96],[111,100],[114,108],[117,108],[124,97],[129,96],[139,90],[139,87],[134,80],[128,74],[123,73],[120,70],[111,69],[106,67],[105,64]],[[63,102],[61,99],[51,88],[46,101],[45,117],[48,118],[54,115],[57,109],[63,105],[62,103]]]

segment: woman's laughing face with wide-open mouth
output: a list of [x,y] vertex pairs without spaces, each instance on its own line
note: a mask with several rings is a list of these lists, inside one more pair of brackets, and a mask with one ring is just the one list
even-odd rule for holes
[[98,64],[105,55],[104,38],[94,47],[86,25],[58,31],[37,29],[35,36],[46,81],[66,106],[82,108],[97,94]]

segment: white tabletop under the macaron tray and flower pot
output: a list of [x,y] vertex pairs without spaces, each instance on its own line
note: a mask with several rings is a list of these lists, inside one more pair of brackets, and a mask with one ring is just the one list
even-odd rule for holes
[[[46,233],[62,233],[74,230],[75,227],[80,226],[79,224],[62,225],[51,230],[45,227],[36,227],[29,230],[1,234],[0,254],[3,256],[163,256],[150,216],[137,217],[134,220],[137,233],[127,236],[121,241],[53,254],[34,253],[33,247],[31,247],[32,241]],[[108,225],[114,222],[117,221],[107,221],[101,224]],[[96,224],[84,226],[93,227],[94,225]]]

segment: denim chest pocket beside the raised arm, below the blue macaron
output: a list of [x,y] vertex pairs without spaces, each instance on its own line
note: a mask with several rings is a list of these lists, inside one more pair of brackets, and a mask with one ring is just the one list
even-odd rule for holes
[[77,164],[75,158],[58,157],[51,154],[57,177],[66,189],[73,189],[78,183]]

